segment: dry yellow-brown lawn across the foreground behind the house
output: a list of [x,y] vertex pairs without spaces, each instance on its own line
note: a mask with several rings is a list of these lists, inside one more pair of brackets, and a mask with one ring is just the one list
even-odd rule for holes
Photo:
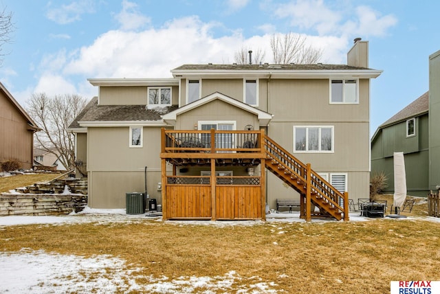
[[254,225],[142,219],[3,227],[0,250],[22,248],[110,254],[141,268],[127,277],[137,284],[149,282],[141,275],[214,278],[236,271],[243,278],[217,293],[250,289],[259,279],[273,282],[270,288],[279,293],[389,293],[392,280],[440,280],[440,222],[423,218]]

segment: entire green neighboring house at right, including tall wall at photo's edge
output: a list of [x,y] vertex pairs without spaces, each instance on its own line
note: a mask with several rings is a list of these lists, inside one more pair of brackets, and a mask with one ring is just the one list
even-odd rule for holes
[[413,196],[426,196],[440,184],[440,51],[429,57],[429,91],[380,125],[371,137],[371,173],[384,172],[394,192],[394,152],[404,152],[406,189]]

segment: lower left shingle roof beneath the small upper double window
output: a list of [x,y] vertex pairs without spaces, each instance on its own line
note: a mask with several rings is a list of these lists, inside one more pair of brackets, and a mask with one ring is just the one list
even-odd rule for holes
[[159,109],[146,109],[143,105],[98,105],[94,97],[83,111],[70,124],[69,128],[80,128],[79,122],[124,122],[162,120],[161,115],[177,109],[178,106],[166,106]]

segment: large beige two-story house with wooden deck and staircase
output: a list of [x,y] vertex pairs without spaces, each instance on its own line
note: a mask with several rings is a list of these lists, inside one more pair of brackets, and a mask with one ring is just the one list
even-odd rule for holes
[[369,193],[370,79],[382,71],[369,69],[368,45],[356,39],[347,65],[89,79],[98,97],[70,126],[89,206],[124,207],[126,192],[146,191],[164,219],[263,219],[265,203],[300,199],[306,220],[347,220],[347,192]]

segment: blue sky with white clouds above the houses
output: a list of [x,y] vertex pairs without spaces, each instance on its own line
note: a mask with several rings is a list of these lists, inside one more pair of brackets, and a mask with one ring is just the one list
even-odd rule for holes
[[[24,107],[32,93],[98,89],[87,78],[171,78],[188,63],[233,63],[241,48],[301,34],[322,63],[347,64],[353,39],[369,41],[371,135],[428,91],[428,58],[440,50],[437,0],[0,0],[12,13],[0,81]],[[2,10],[0,10],[2,11]]]

